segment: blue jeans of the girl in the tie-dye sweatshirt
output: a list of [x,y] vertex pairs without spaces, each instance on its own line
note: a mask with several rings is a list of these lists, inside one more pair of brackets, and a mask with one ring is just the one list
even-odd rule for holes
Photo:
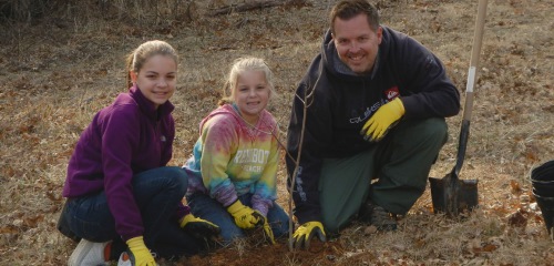
[[[245,206],[252,206],[253,194],[247,193],[238,197]],[[222,229],[224,244],[229,244],[235,238],[245,237],[245,233],[235,224],[235,219],[227,209],[216,200],[203,193],[195,193],[187,198],[191,212],[203,219],[207,219]],[[275,238],[288,235],[288,215],[274,202],[274,206],[267,212],[267,221],[271,226]]]

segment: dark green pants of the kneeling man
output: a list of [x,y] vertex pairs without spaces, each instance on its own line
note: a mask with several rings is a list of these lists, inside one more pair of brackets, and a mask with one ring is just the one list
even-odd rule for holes
[[444,119],[404,120],[366,152],[326,158],[319,180],[326,231],[338,233],[368,197],[393,214],[406,214],[423,194],[447,139]]

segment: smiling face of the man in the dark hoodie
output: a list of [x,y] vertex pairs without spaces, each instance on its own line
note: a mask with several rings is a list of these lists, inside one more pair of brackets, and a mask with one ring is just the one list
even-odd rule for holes
[[366,14],[349,20],[335,20],[332,40],[340,60],[357,74],[370,73],[382,38],[382,28],[375,32]]

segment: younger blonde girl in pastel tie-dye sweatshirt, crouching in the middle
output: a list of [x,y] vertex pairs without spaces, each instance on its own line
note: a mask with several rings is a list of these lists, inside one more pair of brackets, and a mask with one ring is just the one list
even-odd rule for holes
[[270,243],[288,232],[289,217],[275,203],[279,130],[266,110],[274,95],[264,60],[238,59],[219,106],[202,120],[193,156],[184,165],[193,214],[218,225],[225,243],[257,228]]

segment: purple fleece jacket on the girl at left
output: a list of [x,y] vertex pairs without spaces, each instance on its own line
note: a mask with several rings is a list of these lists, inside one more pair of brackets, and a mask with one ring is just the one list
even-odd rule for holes
[[[134,174],[162,167],[172,157],[175,122],[166,102],[158,110],[133,86],[102,109],[83,131],[68,165],[64,197],[81,197],[105,191],[115,218],[115,231],[124,241],[143,235],[141,213],[133,196]],[[178,218],[189,213],[182,203]]]

